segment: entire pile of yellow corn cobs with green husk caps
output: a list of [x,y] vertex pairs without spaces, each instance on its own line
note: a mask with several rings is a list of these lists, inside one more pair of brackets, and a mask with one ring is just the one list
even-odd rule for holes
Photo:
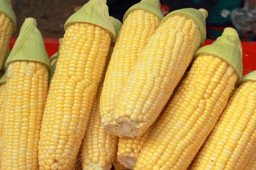
[[1,170],[256,170],[256,71],[233,28],[200,48],[207,16],[90,0],[49,59],[34,18],[9,51],[0,0]]

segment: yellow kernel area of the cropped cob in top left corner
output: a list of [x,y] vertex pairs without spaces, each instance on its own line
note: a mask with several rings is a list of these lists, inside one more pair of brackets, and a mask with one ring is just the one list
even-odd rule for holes
[[0,12],[0,69],[3,65],[3,60],[9,48],[10,38],[12,36],[12,22],[5,14]]

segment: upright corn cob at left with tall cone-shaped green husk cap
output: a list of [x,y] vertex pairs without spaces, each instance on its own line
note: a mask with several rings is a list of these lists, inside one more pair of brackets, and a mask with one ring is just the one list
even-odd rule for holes
[[26,18],[6,60],[2,170],[37,170],[50,61],[34,18]]

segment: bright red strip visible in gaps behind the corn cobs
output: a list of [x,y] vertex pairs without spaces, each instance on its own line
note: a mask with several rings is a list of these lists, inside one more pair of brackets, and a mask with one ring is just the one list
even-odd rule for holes
[[[10,42],[10,49],[15,43],[17,38],[12,38]],[[204,45],[209,45],[213,41],[205,40]],[[47,50],[48,56],[51,57],[52,54],[58,51],[58,38],[44,38],[45,48]],[[243,75],[256,70],[256,42],[241,42],[243,47],[243,63],[244,70]],[[204,46],[203,45],[203,46]]]

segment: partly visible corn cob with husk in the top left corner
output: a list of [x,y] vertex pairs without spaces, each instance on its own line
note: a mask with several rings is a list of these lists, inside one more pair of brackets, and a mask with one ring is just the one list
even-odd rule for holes
[[16,16],[12,10],[12,1],[0,0],[0,69],[9,48],[10,38],[12,33],[16,31],[16,27]]

